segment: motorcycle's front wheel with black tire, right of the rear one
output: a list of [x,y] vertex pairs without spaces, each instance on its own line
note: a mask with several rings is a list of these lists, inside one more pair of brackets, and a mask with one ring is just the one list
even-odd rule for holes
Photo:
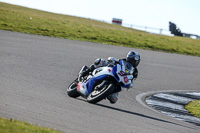
[[109,83],[108,85],[105,85],[100,90],[94,89],[94,91],[92,91],[92,93],[87,97],[87,101],[89,103],[95,104],[95,103],[103,100],[108,95],[110,95],[114,91],[114,89],[115,89],[115,85],[113,83]]

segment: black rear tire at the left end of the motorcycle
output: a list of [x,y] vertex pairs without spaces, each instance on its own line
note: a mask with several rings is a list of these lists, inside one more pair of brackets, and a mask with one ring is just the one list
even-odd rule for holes
[[67,94],[70,97],[76,98],[79,97],[80,94],[77,92],[77,86],[78,86],[78,81],[75,80],[74,82],[72,82],[69,87],[67,88]]

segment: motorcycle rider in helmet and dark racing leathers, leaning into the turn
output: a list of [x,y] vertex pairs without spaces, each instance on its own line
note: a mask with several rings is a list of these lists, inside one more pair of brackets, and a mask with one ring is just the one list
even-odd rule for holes
[[[127,88],[131,88],[134,86],[133,81],[136,80],[138,76],[138,69],[137,66],[140,63],[140,54],[135,51],[129,51],[126,58],[123,59],[116,59],[114,57],[108,57],[108,60],[98,58],[95,60],[94,64],[92,64],[89,68],[86,70],[82,71],[82,73],[79,74],[78,80],[81,81],[82,78],[84,78],[86,75],[88,75],[90,72],[93,72],[94,69],[99,68],[99,67],[104,67],[104,66],[114,66],[120,61],[128,62],[128,67],[129,70],[126,72],[127,75],[131,75],[131,84],[126,86]],[[130,66],[131,64],[131,66]],[[130,70],[131,69],[131,70]],[[115,90],[112,94],[110,94],[107,99],[110,101],[110,103],[114,104],[118,100],[118,92],[120,90]]]

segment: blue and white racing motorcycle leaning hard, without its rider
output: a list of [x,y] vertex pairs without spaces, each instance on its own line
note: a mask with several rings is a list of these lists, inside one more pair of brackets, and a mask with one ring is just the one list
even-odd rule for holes
[[[83,66],[79,74],[86,69],[87,66]],[[132,72],[132,65],[123,60],[115,65],[99,67],[80,81],[76,78],[67,88],[67,94],[72,98],[82,96],[95,104],[113,92],[121,91],[122,87],[128,89]]]

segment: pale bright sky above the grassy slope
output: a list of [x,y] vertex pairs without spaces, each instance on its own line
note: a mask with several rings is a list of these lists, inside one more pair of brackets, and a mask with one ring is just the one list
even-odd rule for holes
[[[200,0],[0,0],[29,8],[123,24],[200,35]],[[148,28],[147,28],[148,29]]]

